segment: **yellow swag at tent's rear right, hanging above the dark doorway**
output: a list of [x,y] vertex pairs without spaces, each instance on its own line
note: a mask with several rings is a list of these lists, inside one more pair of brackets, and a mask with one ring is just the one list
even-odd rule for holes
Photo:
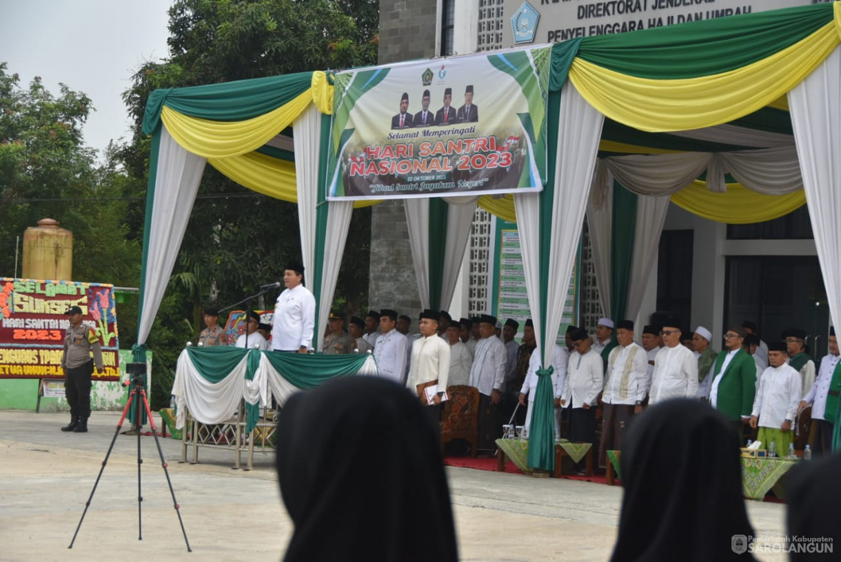
[[693,215],[729,225],[748,225],[774,220],[806,204],[802,189],[792,194],[758,194],[738,183],[727,183],[727,193],[719,194],[696,181],[671,197],[672,203]]

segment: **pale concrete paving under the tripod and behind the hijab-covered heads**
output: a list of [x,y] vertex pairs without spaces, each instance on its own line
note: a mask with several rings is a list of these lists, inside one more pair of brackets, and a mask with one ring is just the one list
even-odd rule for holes
[[[119,435],[73,549],[68,550],[119,414],[94,412],[88,433],[63,433],[66,413],[0,411],[0,559],[281,559],[292,525],[273,459],[235,470],[233,452],[202,448],[181,464],[181,443],[161,439],[193,553],[188,553],[155,440]],[[156,422],[158,418],[156,416]],[[126,429],[128,425],[124,427]],[[245,459],[245,455],[243,455]],[[462,560],[605,560],[616,540],[619,487],[447,468]],[[784,534],[785,506],[748,501],[760,537]],[[783,554],[761,554],[784,560]]]

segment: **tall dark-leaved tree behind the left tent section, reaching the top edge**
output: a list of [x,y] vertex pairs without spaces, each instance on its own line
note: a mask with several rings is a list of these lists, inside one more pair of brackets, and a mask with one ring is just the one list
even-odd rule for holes
[[[177,0],[169,15],[170,56],[141,66],[124,93],[134,129],[119,147],[119,159],[143,181],[150,140],[140,125],[155,89],[377,61],[377,0]],[[145,194],[140,185],[131,188],[135,196]],[[142,211],[135,205],[125,218],[130,240],[141,239]],[[369,246],[370,211],[362,209],[354,213],[336,290],[336,302],[351,310],[366,304]],[[196,337],[202,304],[227,305],[256,293],[260,284],[280,280],[288,260],[299,257],[297,207],[247,192],[208,166],[159,320],[167,330],[192,325]],[[170,299],[173,292],[181,298]],[[266,308],[275,296],[267,295]],[[157,351],[151,342],[150,348]]]

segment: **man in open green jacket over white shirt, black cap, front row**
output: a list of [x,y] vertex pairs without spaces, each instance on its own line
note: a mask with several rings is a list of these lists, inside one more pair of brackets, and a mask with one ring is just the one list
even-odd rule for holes
[[722,350],[716,358],[710,389],[710,406],[727,416],[739,442],[743,440],[743,424],[750,421],[756,395],[756,363],[742,348],[746,335],[740,326],[727,328],[724,334],[727,353]]

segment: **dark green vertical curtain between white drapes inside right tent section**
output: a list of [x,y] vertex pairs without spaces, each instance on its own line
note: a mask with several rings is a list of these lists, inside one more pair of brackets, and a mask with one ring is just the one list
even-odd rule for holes
[[[634,229],[637,226],[637,194],[613,183],[613,228],[611,230],[611,318],[625,318],[631,288]],[[613,331],[616,341],[616,331]]]

